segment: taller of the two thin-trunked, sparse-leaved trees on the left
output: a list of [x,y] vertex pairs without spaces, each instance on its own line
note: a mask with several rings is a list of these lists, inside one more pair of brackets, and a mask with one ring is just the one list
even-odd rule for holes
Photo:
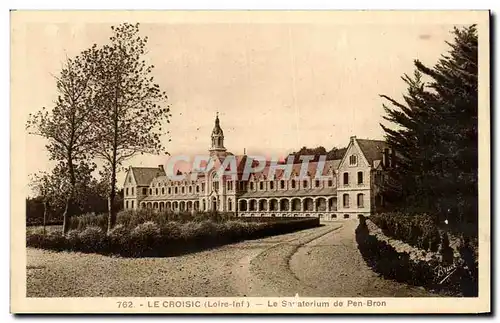
[[154,83],[154,66],[145,61],[147,37],[139,36],[139,24],[124,23],[112,30],[110,44],[99,53],[99,140],[93,147],[109,174],[108,230],[116,221],[117,168],[139,153],[162,152],[161,126],[171,116],[166,93]]

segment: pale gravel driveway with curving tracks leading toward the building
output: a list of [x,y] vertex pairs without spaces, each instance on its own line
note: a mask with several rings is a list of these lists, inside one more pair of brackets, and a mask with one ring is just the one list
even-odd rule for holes
[[357,221],[169,258],[28,249],[28,297],[432,296],[377,277]]

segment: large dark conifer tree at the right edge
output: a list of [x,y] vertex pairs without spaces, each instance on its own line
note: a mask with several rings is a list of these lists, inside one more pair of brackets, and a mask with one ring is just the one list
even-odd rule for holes
[[384,119],[396,126],[382,128],[398,152],[391,176],[402,183],[399,201],[477,224],[476,26],[454,28],[453,35],[451,49],[433,68],[416,60],[413,78],[403,77],[404,104],[382,96],[393,106],[384,105]]

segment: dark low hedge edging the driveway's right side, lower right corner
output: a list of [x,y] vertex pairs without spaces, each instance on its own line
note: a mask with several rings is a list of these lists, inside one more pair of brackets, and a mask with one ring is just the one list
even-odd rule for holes
[[443,263],[443,259],[438,257],[430,261],[411,259],[408,253],[396,251],[388,242],[370,235],[366,219],[362,216],[356,228],[356,241],[366,263],[375,272],[388,279],[432,290],[446,291],[453,295],[467,297],[478,295],[477,262],[471,263],[470,258],[465,256],[467,253],[465,250],[468,249],[466,247],[461,249],[462,259],[454,264],[455,272],[441,283],[447,276],[445,269],[450,267],[449,264]]

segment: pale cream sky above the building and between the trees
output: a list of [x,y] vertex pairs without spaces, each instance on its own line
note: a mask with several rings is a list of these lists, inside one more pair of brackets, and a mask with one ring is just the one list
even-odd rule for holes
[[[111,24],[36,22],[22,42],[26,118],[57,97],[54,75],[66,57],[104,44]],[[401,99],[413,60],[434,65],[453,25],[325,23],[142,23],[147,60],[167,92],[172,155],[206,154],[216,112],[234,154],[285,156],[303,146],[345,147],[350,136],[383,139],[379,95]],[[21,57],[21,56],[20,56]],[[25,122],[25,120],[22,120]],[[171,142],[168,140],[171,139]],[[25,135],[26,173],[52,167],[43,138]],[[157,166],[137,156],[124,166]],[[119,175],[119,183],[124,173]],[[120,185],[121,186],[121,185]]]

